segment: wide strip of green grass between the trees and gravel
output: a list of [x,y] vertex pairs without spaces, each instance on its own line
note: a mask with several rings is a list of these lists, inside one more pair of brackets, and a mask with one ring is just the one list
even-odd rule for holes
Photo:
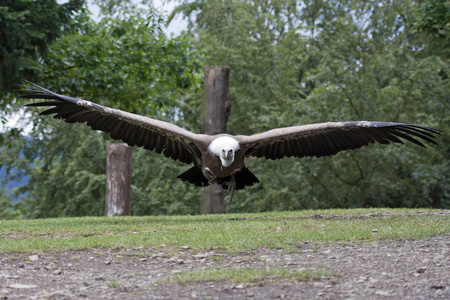
[[[412,215],[401,215],[408,212]],[[303,242],[422,238],[449,234],[450,215],[426,214],[436,212],[439,210],[354,209],[7,220],[0,221],[0,253],[91,247],[159,247],[162,244],[167,247],[188,246],[194,250],[246,251],[266,247],[295,251]],[[376,217],[378,213],[389,217]],[[367,214],[375,214],[375,217],[360,218]]]

